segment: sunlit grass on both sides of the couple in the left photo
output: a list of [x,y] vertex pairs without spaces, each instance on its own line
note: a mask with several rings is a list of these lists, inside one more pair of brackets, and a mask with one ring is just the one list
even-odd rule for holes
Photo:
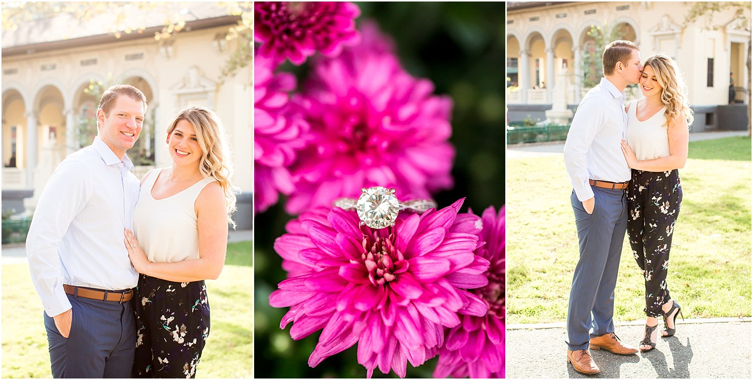
[[[220,278],[207,282],[211,330],[197,373],[252,378],[252,243],[227,245]],[[25,263],[2,266],[2,378],[50,378],[42,306]]]

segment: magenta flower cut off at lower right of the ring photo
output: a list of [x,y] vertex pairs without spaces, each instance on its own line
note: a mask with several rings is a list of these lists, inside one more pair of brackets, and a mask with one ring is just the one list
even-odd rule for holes
[[[480,245],[474,248],[477,256],[472,263],[444,277],[456,287],[470,286],[467,292],[459,292],[469,297],[459,312],[462,324],[446,329],[447,345],[439,348],[434,369],[437,378],[505,377],[505,208],[498,214],[493,207],[487,208],[482,223],[475,223],[474,218],[478,220],[465,214],[453,224],[456,231],[475,230]],[[480,285],[482,282],[486,284]]]

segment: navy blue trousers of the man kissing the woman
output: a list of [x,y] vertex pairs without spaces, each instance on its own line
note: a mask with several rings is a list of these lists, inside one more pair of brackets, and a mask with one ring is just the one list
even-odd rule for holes
[[614,332],[614,286],[627,228],[624,190],[591,188],[593,214],[586,212],[575,191],[570,196],[581,254],[572,277],[567,313],[567,345],[571,351],[587,349],[590,338]]

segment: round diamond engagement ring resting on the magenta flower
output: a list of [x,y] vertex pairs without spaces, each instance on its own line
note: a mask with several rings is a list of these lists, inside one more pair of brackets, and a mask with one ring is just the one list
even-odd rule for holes
[[398,211],[413,210],[419,214],[429,208],[437,208],[437,202],[431,199],[413,199],[407,202],[398,202],[395,189],[386,187],[363,187],[361,196],[356,199],[340,198],[334,201],[335,207],[343,210],[353,210],[358,213],[361,223],[373,229],[380,229],[395,225],[398,219]]

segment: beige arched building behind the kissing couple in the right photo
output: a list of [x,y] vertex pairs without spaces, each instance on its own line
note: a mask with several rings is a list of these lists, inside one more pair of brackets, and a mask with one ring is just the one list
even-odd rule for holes
[[552,104],[556,86],[566,86],[568,105],[578,105],[589,90],[583,84],[584,52],[594,44],[588,32],[608,25],[636,42],[644,59],[655,53],[674,57],[697,113],[729,104],[730,72],[738,87],[736,102],[746,104],[749,10],[746,23],[727,10],[712,14],[710,22],[701,17],[684,26],[691,7],[692,2],[508,2],[508,87],[517,89],[508,90],[506,102],[513,112],[535,110]]

